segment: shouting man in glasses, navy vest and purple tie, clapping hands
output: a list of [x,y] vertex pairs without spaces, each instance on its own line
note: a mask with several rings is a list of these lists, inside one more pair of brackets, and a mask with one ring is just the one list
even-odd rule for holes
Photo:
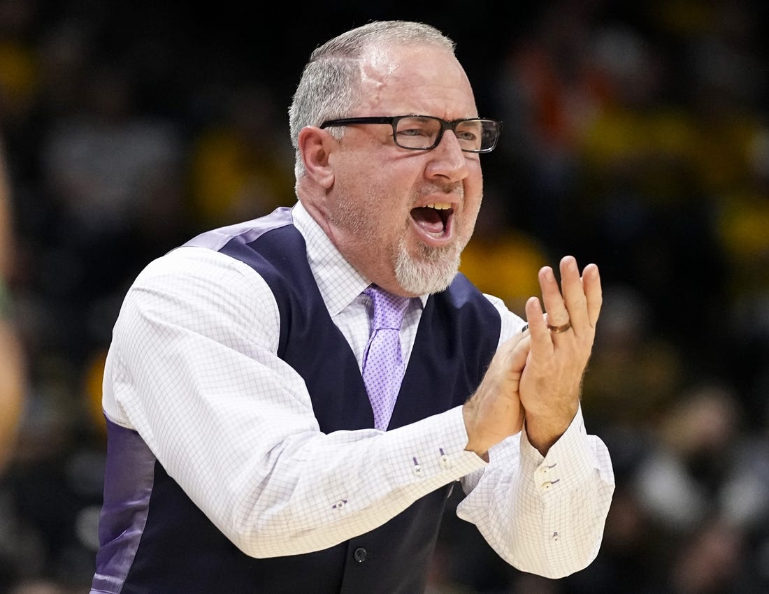
[[[458,513],[514,566],[588,565],[614,486],[579,405],[598,269],[564,257],[561,294],[543,268],[528,330],[457,274],[500,124],[451,41],[409,22],[329,41],[290,123],[298,203],[128,291],[92,592],[421,592],[458,480]],[[384,302],[401,352],[372,363]]]

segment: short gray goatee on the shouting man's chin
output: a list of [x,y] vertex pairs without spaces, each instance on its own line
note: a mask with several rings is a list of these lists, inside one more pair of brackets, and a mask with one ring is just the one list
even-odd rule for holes
[[448,247],[418,246],[419,254],[411,257],[403,242],[398,246],[395,278],[409,293],[424,295],[446,290],[457,275],[464,242]]

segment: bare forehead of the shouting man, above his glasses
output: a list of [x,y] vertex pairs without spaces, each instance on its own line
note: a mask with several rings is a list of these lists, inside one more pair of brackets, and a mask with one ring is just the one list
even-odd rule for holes
[[477,115],[473,91],[457,58],[444,48],[371,48],[361,61],[361,115]]

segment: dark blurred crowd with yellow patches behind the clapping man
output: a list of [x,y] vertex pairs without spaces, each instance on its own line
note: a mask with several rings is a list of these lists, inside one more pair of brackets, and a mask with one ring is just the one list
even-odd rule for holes
[[0,0],[0,592],[88,592],[125,290],[294,203],[301,68],[378,18],[454,38],[504,121],[462,270],[518,312],[564,254],[604,280],[583,399],[618,481],[598,559],[518,572],[450,509],[429,592],[769,592],[765,2],[199,4]]

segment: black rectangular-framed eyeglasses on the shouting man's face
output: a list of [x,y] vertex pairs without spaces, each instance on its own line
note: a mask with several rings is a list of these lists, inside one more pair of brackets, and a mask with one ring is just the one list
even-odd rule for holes
[[429,151],[438,146],[446,130],[457,137],[460,148],[468,153],[489,153],[497,146],[502,122],[484,118],[446,121],[431,115],[398,115],[394,117],[343,118],[328,120],[321,128],[351,124],[391,124],[392,138],[401,148]]

